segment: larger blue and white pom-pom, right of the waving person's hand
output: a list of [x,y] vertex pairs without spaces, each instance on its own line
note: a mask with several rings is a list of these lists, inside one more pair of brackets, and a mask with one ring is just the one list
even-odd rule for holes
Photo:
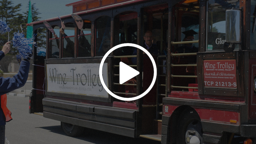
[[[31,58],[32,45],[34,42],[34,36],[32,38],[25,38],[23,33],[15,32],[12,38],[12,45],[16,47],[23,59]],[[36,45],[35,45],[36,46]]]

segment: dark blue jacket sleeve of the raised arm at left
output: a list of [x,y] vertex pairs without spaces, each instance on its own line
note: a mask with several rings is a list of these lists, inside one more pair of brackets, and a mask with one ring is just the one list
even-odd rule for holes
[[30,63],[28,61],[22,60],[18,74],[13,77],[0,77],[0,95],[11,92],[26,84],[28,79],[29,65]]

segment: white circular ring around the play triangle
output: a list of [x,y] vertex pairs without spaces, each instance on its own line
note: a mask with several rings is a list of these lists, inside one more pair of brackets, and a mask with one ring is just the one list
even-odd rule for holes
[[[116,95],[115,93],[111,92],[108,87],[106,86],[104,80],[103,80],[103,76],[102,76],[102,68],[103,68],[103,64],[105,62],[105,60],[107,59],[108,55],[115,51],[116,49],[120,48],[120,47],[124,47],[124,46],[132,46],[132,47],[136,47],[138,49],[140,49],[141,51],[145,52],[149,59],[151,60],[152,64],[153,64],[153,69],[154,69],[154,75],[153,75],[153,79],[151,84],[149,85],[148,89],[141,93],[140,95],[136,96],[136,97],[131,97],[131,98],[124,98],[124,97],[120,97],[118,95]],[[99,75],[100,75],[100,82],[102,84],[102,86],[104,87],[104,89],[114,98],[118,99],[118,100],[123,100],[123,101],[132,101],[132,100],[138,100],[142,97],[144,97],[146,94],[148,94],[148,92],[153,88],[155,82],[156,82],[156,62],[154,60],[154,58],[152,57],[152,55],[150,54],[150,52],[148,52],[148,50],[146,50],[145,48],[143,48],[142,46],[138,45],[138,44],[131,44],[131,43],[124,43],[124,44],[118,44],[114,47],[112,47],[110,50],[108,50],[108,52],[103,56],[102,60],[100,61],[100,69],[99,69]]]

